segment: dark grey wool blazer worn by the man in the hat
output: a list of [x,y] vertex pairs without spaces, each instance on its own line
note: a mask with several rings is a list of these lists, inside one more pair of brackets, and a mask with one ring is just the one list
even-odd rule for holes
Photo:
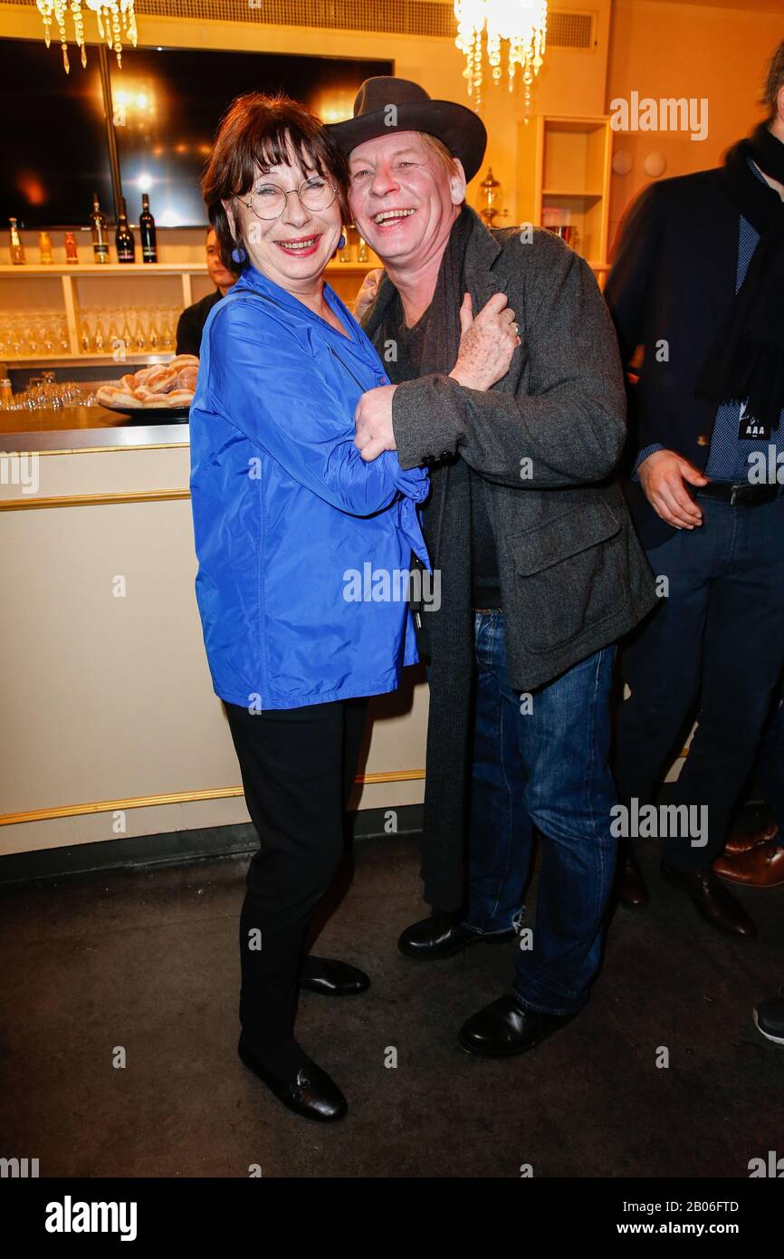
[[[507,665],[541,686],[632,630],[654,606],[651,567],[615,477],[625,395],[615,331],[588,263],[534,229],[473,230],[464,287],[478,312],[505,292],[522,344],[486,393],[447,375],[398,385],[393,428],[404,468],[459,456],[481,475],[498,554]],[[395,295],[383,273],[362,319],[383,355]]]

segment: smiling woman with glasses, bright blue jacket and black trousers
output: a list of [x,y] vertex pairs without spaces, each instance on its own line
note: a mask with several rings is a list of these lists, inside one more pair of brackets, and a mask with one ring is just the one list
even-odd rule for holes
[[190,413],[196,599],[262,841],[240,915],[239,1054],[321,1121],[346,1100],[294,1037],[297,988],[370,981],[303,958],[306,934],[341,859],[367,696],[417,661],[408,604],[389,592],[405,589],[412,550],[428,565],[427,472],[394,452],[365,462],[352,441],[360,395],[389,378],[323,278],[346,188],[308,110],[260,93],[233,103],[203,191],[240,277],[205,324]]

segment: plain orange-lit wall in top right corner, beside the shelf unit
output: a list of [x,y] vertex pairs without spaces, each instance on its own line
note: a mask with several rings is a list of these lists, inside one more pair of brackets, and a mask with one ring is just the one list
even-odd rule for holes
[[784,0],[681,4],[672,0],[614,0],[607,112],[615,97],[705,97],[708,133],[692,141],[682,132],[617,132],[614,151],[633,159],[628,175],[612,176],[610,240],[623,212],[649,183],[643,161],[652,151],[667,160],[662,178],[717,166],[725,150],[763,116],[758,98],[766,62],[784,39]]

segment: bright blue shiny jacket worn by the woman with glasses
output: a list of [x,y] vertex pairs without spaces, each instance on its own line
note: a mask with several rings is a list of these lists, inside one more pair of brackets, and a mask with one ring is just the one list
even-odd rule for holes
[[429,568],[422,468],[366,463],[354,410],[389,384],[325,285],[342,336],[249,267],[204,325],[190,409],[196,602],[215,694],[288,709],[394,690],[417,643],[404,573]]

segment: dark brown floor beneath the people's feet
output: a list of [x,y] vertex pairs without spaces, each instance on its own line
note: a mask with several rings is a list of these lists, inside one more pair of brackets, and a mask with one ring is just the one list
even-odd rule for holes
[[784,1050],[751,1022],[784,982],[784,888],[742,895],[760,938],[735,943],[659,884],[653,845],[642,860],[652,904],[617,913],[584,1013],[495,1063],[456,1032],[507,986],[515,943],[401,957],[399,932],[427,912],[417,844],[359,844],[316,952],[372,988],[306,993],[297,1025],[349,1098],[333,1127],[289,1114],[237,1058],[244,859],[5,891],[1,1153],[42,1176],[748,1176],[784,1149]]

